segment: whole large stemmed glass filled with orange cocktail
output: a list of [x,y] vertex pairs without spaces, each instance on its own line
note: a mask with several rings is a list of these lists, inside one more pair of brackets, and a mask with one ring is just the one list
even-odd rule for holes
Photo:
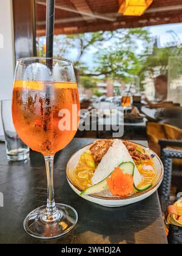
[[12,113],[19,137],[44,155],[47,171],[47,205],[33,210],[24,228],[41,239],[64,235],[76,225],[78,215],[69,205],[55,204],[53,160],[78,129],[79,96],[72,63],[38,57],[18,60]]

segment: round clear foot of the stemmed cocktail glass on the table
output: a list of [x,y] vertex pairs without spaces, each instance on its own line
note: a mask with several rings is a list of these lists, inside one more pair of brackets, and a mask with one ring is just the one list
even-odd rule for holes
[[75,227],[78,214],[75,209],[65,204],[56,204],[59,218],[56,221],[44,221],[46,206],[29,213],[24,221],[24,229],[29,235],[40,239],[51,239],[65,235]]

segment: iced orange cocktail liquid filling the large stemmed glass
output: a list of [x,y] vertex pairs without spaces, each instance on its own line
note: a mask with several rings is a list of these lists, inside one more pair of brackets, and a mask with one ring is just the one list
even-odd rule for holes
[[[61,110],[70,113],[70,129],[60,129]],[[15,81],[14,125],[22,141],[34,151],[54,155],[65,148],[78,129],[78,112],[76,83]]]

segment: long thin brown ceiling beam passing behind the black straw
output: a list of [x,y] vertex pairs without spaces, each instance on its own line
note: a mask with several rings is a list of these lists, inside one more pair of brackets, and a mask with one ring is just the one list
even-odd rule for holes
[[[46,6],[46,2],[43,2],[43,1],[36,1],[36,3]],[[55,8],[59,9],[59,10],[66,10],[67,12],[78,13],[79,15],[89,16],[89,17],[92,17],[94,19],[99,19],[99,20],[106,20],[106,21],[112,21],[112,22],[116,20],[116,18],[111,18],[107,15],[88,13],[88,12],[79,12],[75,8],[67,6],[67,5],[55,5]]]

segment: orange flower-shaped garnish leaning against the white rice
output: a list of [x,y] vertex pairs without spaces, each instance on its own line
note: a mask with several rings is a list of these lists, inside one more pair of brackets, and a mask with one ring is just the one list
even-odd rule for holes
[[111,176],[107,178],[107,185],[113,196],[126,197],[133,192],[133,176],[124,174],[120,167],[115,168]]

